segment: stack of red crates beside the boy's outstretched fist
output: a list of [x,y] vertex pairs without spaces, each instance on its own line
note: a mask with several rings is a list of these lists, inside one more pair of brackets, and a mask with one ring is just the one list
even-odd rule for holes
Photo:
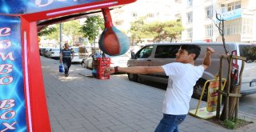
[[104,74],[104,70],[110,66],[110,58],[97,58],[96,69],[98,79],[110,79],[110,74]]

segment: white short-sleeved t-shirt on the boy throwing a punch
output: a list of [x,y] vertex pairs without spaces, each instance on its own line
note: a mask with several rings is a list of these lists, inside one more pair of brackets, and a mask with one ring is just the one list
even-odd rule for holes
[[193,87],[198,78],[202,77],[204,67],[173,62],[162,68],[169,76],[162,112],[174,115],[187,114],[190,109]]

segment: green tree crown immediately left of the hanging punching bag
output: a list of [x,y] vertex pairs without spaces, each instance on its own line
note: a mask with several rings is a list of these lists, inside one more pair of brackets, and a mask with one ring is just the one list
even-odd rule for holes
[[104,30],[104,27],[103,18],[100,16],[91,16],[80,27],[80,32],[84,37],[89,39],[90,43],[94,43],[95,38],[100,35],[100,31]]

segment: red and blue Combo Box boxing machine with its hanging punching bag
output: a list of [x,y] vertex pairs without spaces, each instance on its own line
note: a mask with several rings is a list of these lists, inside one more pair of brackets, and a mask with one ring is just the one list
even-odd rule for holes
[[109,8],[135,1],[2,0],[0,131],[51,131],[38,48],[38,21],[100,10],[106,26],[100,38],[101,50],[110,55],[123,54],[129,48],[129,39],[114,28]]

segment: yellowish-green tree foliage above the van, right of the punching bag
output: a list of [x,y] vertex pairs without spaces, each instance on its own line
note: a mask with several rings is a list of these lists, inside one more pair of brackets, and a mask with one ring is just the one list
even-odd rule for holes
[[166,38],[178,38],[182,34],[182,22],[152,22],[146,24],[145,18],[139,18],[135,22],[131,22],[130,33],[131,38],[135,42],[140,42],[142,38],[151,38],[154,42],[161,42]]

